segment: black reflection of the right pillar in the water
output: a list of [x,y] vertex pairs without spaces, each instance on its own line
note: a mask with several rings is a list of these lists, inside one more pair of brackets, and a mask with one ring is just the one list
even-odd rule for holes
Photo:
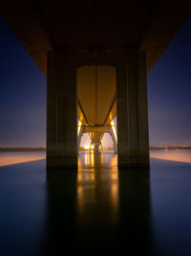
[[133,255],[158,255],[151,233],[149,170],[120,170],[118,193],[119,245],[125,243]]

